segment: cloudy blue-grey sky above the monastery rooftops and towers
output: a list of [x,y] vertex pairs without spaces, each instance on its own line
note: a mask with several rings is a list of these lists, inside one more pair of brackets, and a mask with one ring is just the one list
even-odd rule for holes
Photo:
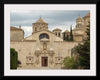
[[84,17],[89,10],[32,10],[20,11],[13,10],[10,12],[10,26],[19,27],[24,30],[27,37],[32,34],[32,23],[36,22],[40,17],[48,23],[48,29],[52,31],[55,28],[70,31],[70,26],[75,28],[76,18]]

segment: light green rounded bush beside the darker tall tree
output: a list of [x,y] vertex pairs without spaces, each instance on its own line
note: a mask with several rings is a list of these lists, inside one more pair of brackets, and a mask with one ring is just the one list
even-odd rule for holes
[[74,60],[74,57],[65,57],[64,58],[64,68],[67,68],[67,69],[78,69],[78,61],[75,61]]

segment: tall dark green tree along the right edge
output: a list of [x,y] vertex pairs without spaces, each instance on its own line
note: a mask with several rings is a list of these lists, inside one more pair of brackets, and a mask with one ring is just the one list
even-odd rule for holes
[[84,44],[79,44],[76,48],[79,54],[79,65],[84,69],[90,69],[90,25],[87,26],[87,39]]

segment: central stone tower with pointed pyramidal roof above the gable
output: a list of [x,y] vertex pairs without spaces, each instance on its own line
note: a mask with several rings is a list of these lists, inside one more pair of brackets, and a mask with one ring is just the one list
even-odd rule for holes
[[33,33],[44,29],[48,30],[48,23],[46,23],[41,17],[32,25],[33,25]]

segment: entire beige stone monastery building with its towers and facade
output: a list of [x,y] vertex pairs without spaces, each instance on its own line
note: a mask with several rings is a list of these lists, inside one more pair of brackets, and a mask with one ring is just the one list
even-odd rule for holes
[[76,19],[73,42],[63,40],[61,29],[48,30],[48,23],[41,17],[32,24],[32,35],[26,38],[21,26],[11,26],[10,48],[15,48],[18,52],[18,69],[61,69],[64,58],[72,56],[71,49],[83,43],[89,20],[90,13],[84,17],[84,22],[80,16]]

